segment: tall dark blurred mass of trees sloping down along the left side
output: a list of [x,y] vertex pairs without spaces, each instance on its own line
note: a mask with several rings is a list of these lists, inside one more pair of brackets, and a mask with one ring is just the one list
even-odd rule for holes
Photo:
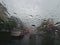
[[10,14],[8,13],[6,6],[0,3],[0,30],[11,30],[17,27],[23,29],[22,21],[19,18],[15,16],[9,17],[8,15]]

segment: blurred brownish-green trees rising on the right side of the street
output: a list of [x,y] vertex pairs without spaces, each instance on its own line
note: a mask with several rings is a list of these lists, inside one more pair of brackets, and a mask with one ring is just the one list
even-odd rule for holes
[[54,21],[52,18],[48,18],[48,19],[44,19],[42,22],[41,22],[41,25],[39,27],[37,27],[37,30],[39,32],[39,30],[41,31],[44,31],[48,25],[54,25]]

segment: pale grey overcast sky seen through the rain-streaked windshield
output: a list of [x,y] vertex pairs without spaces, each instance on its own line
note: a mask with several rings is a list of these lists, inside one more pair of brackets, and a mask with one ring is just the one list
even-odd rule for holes
[[[39,19],[54,18],[60,21],[60,0],[1,0],[8,11],[28,24],[39,25]],[[0,1],[0,2],[1,2]],[[17,15],[14,14],[17,13]],[[33,15],[33,16],[31,16]],[[28,20],[28,21],[26,21]],[[30,26],[29,25],[29,26]]]

